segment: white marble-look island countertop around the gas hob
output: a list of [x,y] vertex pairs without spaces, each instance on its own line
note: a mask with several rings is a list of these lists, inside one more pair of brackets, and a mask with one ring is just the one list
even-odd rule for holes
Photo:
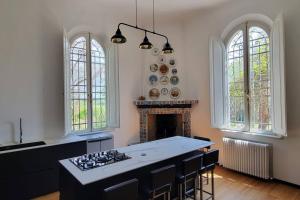
[[[128,147],[117,148],[131,159],[103,167],[81,171],[69,159],[59,161],[82,185],[87,185],[108,177],[151,165],[197,149],[211,146],[212,142],[186,137],[171,137]],[[142,156],[146,154],[146,156]]]

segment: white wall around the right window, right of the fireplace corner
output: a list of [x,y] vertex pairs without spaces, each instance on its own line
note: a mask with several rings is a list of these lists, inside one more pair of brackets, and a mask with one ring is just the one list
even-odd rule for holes
[[192,132],[212,138],[222,149],[224,136],[210,128],[209,110],[209,36],[218,36],[234,19],[261,13],[274,19],[280,12],[285,17],[286,81],[288,137],[283,140],[240,134],[226,134],[273,144],[274,177],[300,185],[300,1],[299,0],[235,0],[206,12],[193,13],[185,21],[185,61],[188,72],[189,97],[200,103],[192,113]]

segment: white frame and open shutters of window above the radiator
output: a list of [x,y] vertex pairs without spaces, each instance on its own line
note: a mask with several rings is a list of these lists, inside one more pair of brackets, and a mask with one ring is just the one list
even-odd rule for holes
[[[270,57],[271,57],[271,95],[272,95],[272,132],[249,133],[241,130],[237,132],[282,138],[287,136],[286,129],[286,102],[285,102],[285,54],[284,54],[284,25],[280,14],[274,21],[261,14],[242,16],[230,23],[219,37],[210,38],[210,90],[211,90],[211,124],[212,127],[226,130],[226,90],[225,67],[226,48],[224,41],[228,41],[240,24],[253,21],[264,30],[270,29]],[[268,31],[266,31],[268,33]],[[246,33],[248,34],[248,33]],[[248,49],[247,49],[248,51]],[[248,77],[248,76],[246,76]]]

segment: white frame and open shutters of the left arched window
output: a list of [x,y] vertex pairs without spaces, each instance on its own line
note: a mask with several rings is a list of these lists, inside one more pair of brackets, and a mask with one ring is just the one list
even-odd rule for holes
[[[91,110],[91,78],[88,78],[88,128],[85,131],[72,131],[72,116],[70,107],[70,48],[77,38],[85,37],[87,40],[87,71],[90,77],[90,42],[96,40],[102,47],[105,54],[105,78],[106,78],[106,127],[102,129],[92,129],[92,110]],[[64,30],[64,83],[65,83],[65,134],[86,134],[102,131],[111,131],[120,127],[120,96],[119,96],[119,62],[118,47],[116,45],[104,46],[100,40],[88,32],[73,35],[70,40],[68,33]],[[90,64],[89,64],[90,63]]]

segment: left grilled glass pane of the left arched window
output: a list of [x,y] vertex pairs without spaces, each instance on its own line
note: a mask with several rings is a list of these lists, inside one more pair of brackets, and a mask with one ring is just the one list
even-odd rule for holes
[[87,130],[86,40],[76,39],[71,46],[71,112],[72,131]]

